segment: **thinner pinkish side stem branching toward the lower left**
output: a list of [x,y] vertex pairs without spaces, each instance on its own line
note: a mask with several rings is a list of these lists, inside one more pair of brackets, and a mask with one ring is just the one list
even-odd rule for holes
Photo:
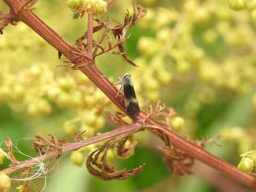
[[[81,147],[91,145],[92,143],[97,143],[97,142],[100,142],[100,141],[103,141],[106,139],[122,137],[123,135],[126,135],[126,134],[132,134],[132,133],[138,132],[138,131],[140,131],[141,125],[142,125],[142,123],[134,123],[131,125],[127,125],[127,126],[115,129],[113,131],[109,131],[107,133],[102,133],[93,138],[89,138],[89,139],[82,140],[82,141],[75,142],[75,143],[69,143],[68,145],[63,146],[61,152],[62,152],[62,154],[65,154],[69,151],[77,150]],[[52,158],[55,155],[56,155],[55,151],[52,151],[51,153],[46,154],[44,159]],[[33,164],[37,163],[38,161],[42,161],[42,156],[37,156],[37,157],[35,157],[33,159],[29,159],[27,161],[15,163],[15,165],[0,171],[0,173],[10,174],[14,171],[22,169],[23,167],[33,166]]]

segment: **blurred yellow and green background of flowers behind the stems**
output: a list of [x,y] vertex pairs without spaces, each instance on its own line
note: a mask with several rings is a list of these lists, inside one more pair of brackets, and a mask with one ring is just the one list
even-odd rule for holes
[[[237,165],[239,155],[255,149],[256,34],[252,7],[246,5],[235,12],[228,1],[221,0],[136,3],[146,7],[147,15],[129,30],[131,37],[124,47],[139,67],[109,53],[96,59],[97,66],[111,82],[130,73],[142,110],[158,100],[174,108],[181,118],[172,122],[173,130],[183,137],[200,140],[222,134],[217,140],[221,147],[209,145],[206,149]],[[4,13],[9,10],[3,1],[0,7]],[[86,14],[73,19],[65,1],[41,0],[33,7],[38,17],[70,44],[86,31]],[[123,22],[126,9],[132,13],[130,0],[116,0],[103,17]],[[101,34],[95,33],[94,38]],[[47,137],[52,133],[72,141],[75,131],[86,130],[86,139],[117,128],[105,113],[118,109],[79,70],[56,67],[63,60],[25,23],[7,26],[0,36],[0,141],[12,139],[23,153],[14,153],[19,161],[37,156],[32,145],[36,134]],[[225,185],[237,185],[199,163],[195,165],[197,174],[175,177],[156,149],[161,141],[149,132],[134,134],[134,140],[138,146],[130,158],[119,159],[115,148],[108,158],[118,169],[146,163],[139,175],[123,181],[93,177],[85,166],[86,156],[97,148],[91,145],[47,164],[53,170],[45,191],[201,192],[228,191]],[[3,142],[1,148],[6,148]],[[5,159],[0,169],[9,163]],[[31,191],[41,191],[44,181],[33,180]],[[15,187],[19,185],[22,182],[13,182],[10,191],[18,191]]]

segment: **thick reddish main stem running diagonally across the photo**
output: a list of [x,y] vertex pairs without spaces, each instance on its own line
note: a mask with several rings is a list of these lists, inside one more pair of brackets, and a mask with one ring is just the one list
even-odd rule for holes
[[[18,9],[20,6],[19,0],[4,0],[4,2],[13,7],[14,9]],[[33,29],[37,34],[39,34],[42,38],[45,39],[49,44],[51,44],[55,49],[59,50],[65,57],[67,57],[70,61],[77,63],[76,59],[74,59],[73,51],[77,51],[74,46],[71,46],[69,43],[64,41],[55,31],[53,31],[49,26],[47,26],[41,19],[39,19],[33,12],[31,11],[22,11],[19,14],[19,19],[25,22],[31,29]],[[86,60],[86,57],[84,57]],[[121,95],[117,95],[117,89],[113,84],[111,84],[108,79],[102,75],[102,73],[98,70],[95,65],[85,65],[84,67],[79,68],[87,77],[91,79],[91,81],[99,87],[99,89],[107,95],[107,97],[115,103],[115,105],[125,112],[124,100]],[[141,112],[138,116],[138,119],[145,119],[146,113]],[[169,135],[171,143],[174,147],[180,148],[185,151],[191,157],[197,159],[198,161],[203,162],[206,165],[213,167],[216,170],[221,171],[222,173],[228,175],[228,177],[243,183],[244,185],[256,188],[256,180],[253,175],[243,173],[237,169],[234,165],[231,165],[228,162],[222,161],[218,157],[208,153],[204,149],[194,145],[180,137],[177,133],[169,130],[167,127],[163,127],[163,125],[154,121],[154,119],[149,118],[147,121],[148,124],[155,125],[158,127],[162,127],[162,130],[165,131],[166,134]],[[155,129],[149,129],[154,134],[157,134]]]

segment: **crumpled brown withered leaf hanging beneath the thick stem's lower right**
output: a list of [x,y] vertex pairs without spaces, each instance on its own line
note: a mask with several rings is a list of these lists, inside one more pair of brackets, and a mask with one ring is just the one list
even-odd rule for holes
[[164,155],[165,162],[174,175],[181,176],[193,173],[191,166],[194,164],[194,158],[184,151],[174,147],[157,148]]

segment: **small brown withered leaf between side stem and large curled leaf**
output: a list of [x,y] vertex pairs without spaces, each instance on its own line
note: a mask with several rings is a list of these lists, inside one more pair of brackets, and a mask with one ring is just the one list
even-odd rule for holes
[[132,142],[130,144],[130,146],[128,148],[125,148],[125,142],[127,140],[131,141],[131,136],[122,139],[122,141],[118,142],[117,145],[116,145],[117,155],[119,157],[123,157],[123,158],[130,157],[130,155],[133,152],[134,148],[137,146],[137,141],[134,141],[134,142]]

